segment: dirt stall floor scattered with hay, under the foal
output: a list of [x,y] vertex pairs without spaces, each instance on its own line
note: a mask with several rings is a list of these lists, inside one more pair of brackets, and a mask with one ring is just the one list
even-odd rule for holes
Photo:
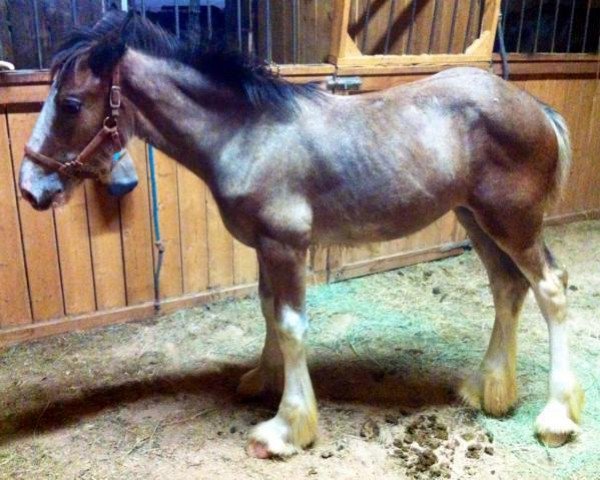
[[503,419],[456,400],[493,306],[473,252],[309,291],[320,437],[287,461],[244,452],[271,403],[236,398],[264,334],[256,298],[63,335],[0,353],[2,479],[600,478],[600,222],[547,231],[570,271],[582,434],[546,449],[532,423],[548,341],[528,298],[520,401]]

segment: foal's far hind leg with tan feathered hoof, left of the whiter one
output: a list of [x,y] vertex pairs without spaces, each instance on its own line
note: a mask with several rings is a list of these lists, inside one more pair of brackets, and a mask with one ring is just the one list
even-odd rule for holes
[[460,395],[469,405],[500,416],[517,401],[517,325],[529,283],[510,257],[479,227],[469,210],[459,208],[456,214],[487,270],[496,309],[485,357],[479,370],[463,382]]

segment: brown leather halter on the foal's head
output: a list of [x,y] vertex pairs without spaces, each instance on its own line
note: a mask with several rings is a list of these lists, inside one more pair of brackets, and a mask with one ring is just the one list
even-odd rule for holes
[[[98,176],[93,170],[86,168],[86,164],[94,157],[97,150],[106,142],[111,140],[114,149],[114,158],[118,160],[118,154],[123,150],[121,136],[119,135],[117,119],[119,118],[119,109],[121,108],[121,85],[120,85],[119,67],[115,68],[112,74],[110,93],[108,95],[108,104],[110,107],[110,115],[108,115],[102,123],[100,131],[90,140],[85,148],[69,162],[59,162],[52,157],[48,157],[42,153],[34,152],[29,146],[25,145],[25,154],[38,165],[54,170],[61,175],[67,177],[88,177],[95,178]],[[114,162],[111,162],[111,169]]]

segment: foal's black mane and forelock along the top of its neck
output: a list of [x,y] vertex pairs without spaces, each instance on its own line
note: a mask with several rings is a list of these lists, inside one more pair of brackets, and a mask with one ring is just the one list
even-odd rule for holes
[[52,76],[60,87],[76,60],[88,53],[92,71],[97,73],[95,70],[115,64],[127,47],[191,66],[231,88],[255,111],[292,114],[298,97],[321,95],[314,83],[299,85],[276,77],[265,62],[203,45],[198,35],[180,40],[138,14],[118,10],[110,10],[94,26],[78,28],[69,35],[53,58]]

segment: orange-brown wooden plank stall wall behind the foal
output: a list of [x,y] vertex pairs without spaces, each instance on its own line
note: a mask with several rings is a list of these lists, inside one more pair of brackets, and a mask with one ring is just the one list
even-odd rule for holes
[[[515,83],[565,115],[575,154],[565,198],[552,215],[562,220],[597,215],[600,81],[589,74],[541,71],[517,72]],[[34,211],[16,183],[23,145],[40,108],[23,102],[23,89],[37,88],[39,96],[40,85],[13,90],[13,97],[21,99],[17,104],[6,104],[3,88],[8,87],[0,86],[0,344],[151,316],[155,252],[144,144],[136,141],[130,147],[141,182],[121,201],[87,182],[65,207]],[[254,291],[254,254],[227,233],[205,185],[160,152],[156,161],[166,245],[164,311]],[[340,280],[459,253],[457,242],[464,238],[448,215],[406,239],[317,249],[310,260],[312,279]]]

